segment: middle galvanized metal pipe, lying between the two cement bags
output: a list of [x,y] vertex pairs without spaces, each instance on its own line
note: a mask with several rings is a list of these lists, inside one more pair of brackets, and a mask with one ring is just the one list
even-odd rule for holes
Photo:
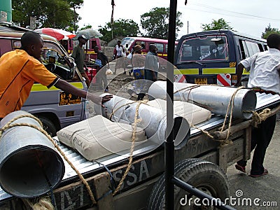
[[[105,109],[101,106],[94,105],[94,111],[102,114],[106,118],[119,123],[134,123],[134,116],[137,108],[137,103],[134,101],[113,95],[109,102],[105,102]],[[141,121],[137,123],[138,127],[145,130],[148,139],[155,141],[157,144],[162,144],[166,139],[167,133],[167,117],[165,111],[157,109],[147,104],[139,106],[138,118]],[[185,118],[174,115],[174,129],[176,130],[175,146],[179,146],[183,140],[186,140],[190,135],[190,125]]]

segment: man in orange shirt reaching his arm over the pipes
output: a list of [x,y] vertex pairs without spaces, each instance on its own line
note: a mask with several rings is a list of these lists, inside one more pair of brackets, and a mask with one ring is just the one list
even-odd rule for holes
[[6,52],[0,57],[0,120],[22,108],[35,81],[48,88],[55,86],[78,97],[87,97],[96,104],[112,98],[111,95],[98,97],[87,93],[55,76],[41,63],[42,52],[43,39],[40,34],[27,31],[22,35],[19,50]]

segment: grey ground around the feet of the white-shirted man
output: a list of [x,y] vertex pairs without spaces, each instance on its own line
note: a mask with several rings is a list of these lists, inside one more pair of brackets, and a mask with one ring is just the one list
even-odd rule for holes
[[[272,141],[267,148],[265,156],[264,166],[268,169],[269,174],[259,178],[251,178],[248,176],[251,169],[251,160],[248,161],[247,173],[244,174],[235,169],[232,165],[228,167],[227,176],[230,181],[230,193],[232,197],[238,198],[237,194],[243,193],[242,198],[251,198],[252,206],[240,205],[235,206],[236,209],[280,209],[280,166],[279,166],[279,155],[280,155],[280,121],[276,123],[274,135]],[[253,158],[253,153],[251,153]],[[241,191],[240,191],[241,190]],[[259,202],[258,199],[260,199]],[[256,201],[260,206],[254,205],[253,201]],[[270,207],[265,207],[269,204]],[[277,204],[277,207],[275,207]],[[261,206],[262,205],[262,206]],[[272,207],[274,205],[274,207]]]

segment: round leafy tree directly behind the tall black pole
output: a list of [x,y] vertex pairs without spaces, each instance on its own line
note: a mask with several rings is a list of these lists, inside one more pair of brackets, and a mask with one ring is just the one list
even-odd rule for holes
[[[182,13],[176,14],[176,31],[180,31],[183,22],[180,21]],[[169,8],[152,8],[148,13],[141,15],[141,27],[144,36],[151,38],[168,38]],[[176,34],[176,37],[178,34]]]

